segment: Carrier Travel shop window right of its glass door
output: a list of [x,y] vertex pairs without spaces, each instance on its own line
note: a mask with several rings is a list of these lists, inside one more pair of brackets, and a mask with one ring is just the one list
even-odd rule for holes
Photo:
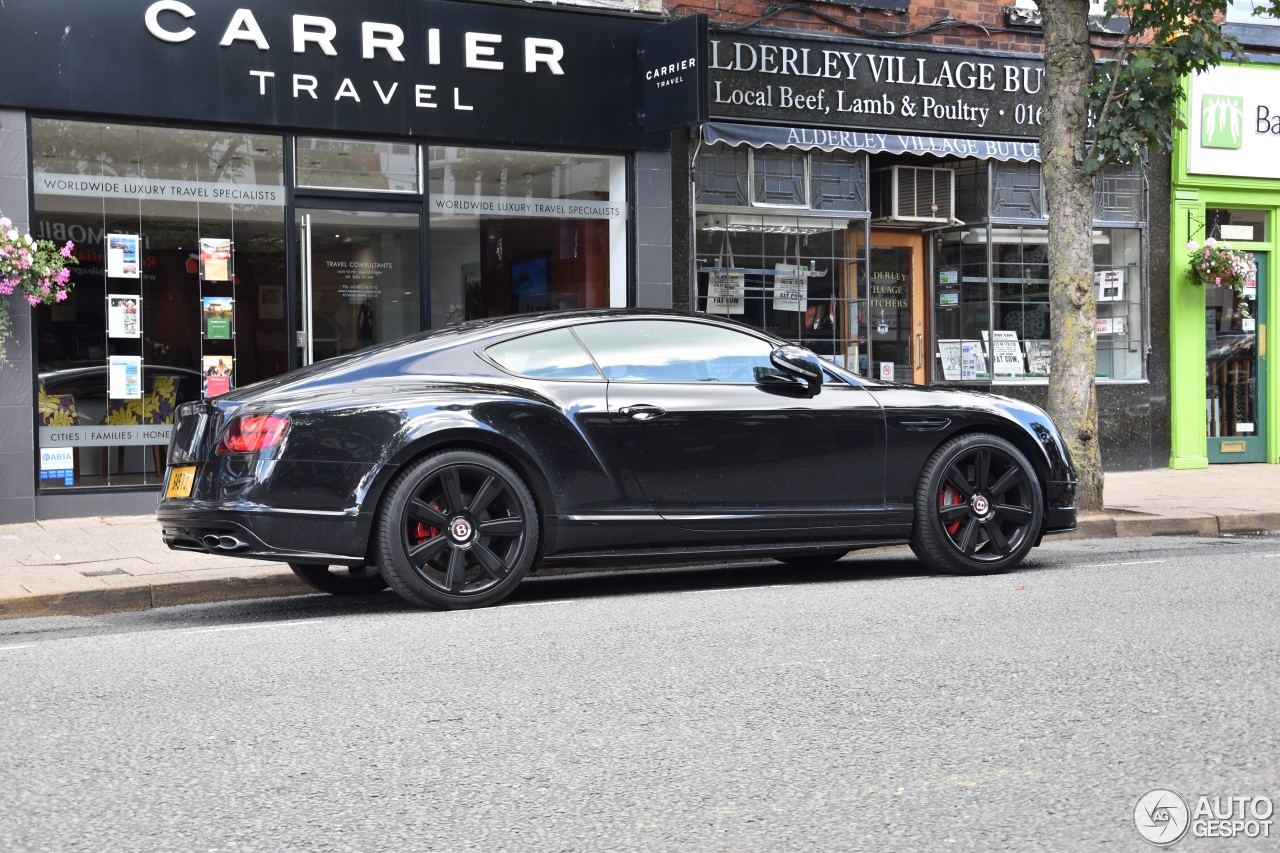
[[626,305],[620,156],[430,146],[431,325]]

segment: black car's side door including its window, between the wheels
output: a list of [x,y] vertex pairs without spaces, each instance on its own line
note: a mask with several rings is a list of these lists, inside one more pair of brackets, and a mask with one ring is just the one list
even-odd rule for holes
[[863,388],[758,382],[773,345],[727,324],[626,319],[577,327],[654,511],[694,530],[881,524],[884,419]]

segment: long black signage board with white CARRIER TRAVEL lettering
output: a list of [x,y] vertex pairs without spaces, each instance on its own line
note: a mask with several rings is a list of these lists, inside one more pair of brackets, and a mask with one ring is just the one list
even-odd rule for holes
[[0,106],[666,149],[636,81],[660,26],[457,0],[5,0]]

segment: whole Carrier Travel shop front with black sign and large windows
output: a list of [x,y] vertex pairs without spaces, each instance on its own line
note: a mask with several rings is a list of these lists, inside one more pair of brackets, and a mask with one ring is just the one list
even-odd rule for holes
[[0,8],[27,188],[0,210],[78,261],[15,328],[36,464],[6,465],[6,520],[150,508],[187,400],[449,323],[669,306],[671,134],[634,59],[658,20],[293,5]]

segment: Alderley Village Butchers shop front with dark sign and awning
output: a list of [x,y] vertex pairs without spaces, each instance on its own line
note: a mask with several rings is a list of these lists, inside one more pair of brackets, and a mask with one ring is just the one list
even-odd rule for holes
[[[692,307],[863,375],[1043,403],[1042,74],[1028,54],[713,32]],[[1103,455],[1149,467],[1167,446],[1153,459],[1148,183],[1114,169],[1096,186]]]

